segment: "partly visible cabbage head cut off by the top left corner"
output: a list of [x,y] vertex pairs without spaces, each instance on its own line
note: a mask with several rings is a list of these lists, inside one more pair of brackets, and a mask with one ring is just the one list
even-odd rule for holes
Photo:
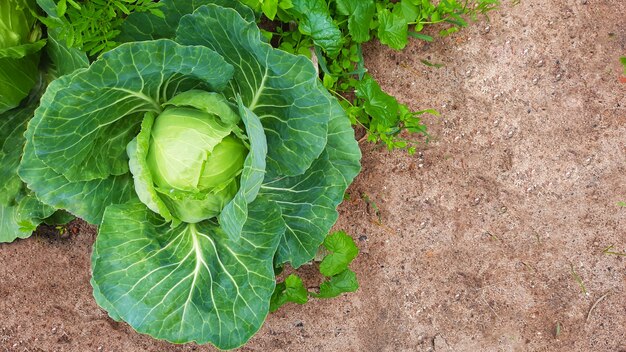
[[37,82],[45,41],[36,10],[35,0],[0,2],[0,113],[18,106]]

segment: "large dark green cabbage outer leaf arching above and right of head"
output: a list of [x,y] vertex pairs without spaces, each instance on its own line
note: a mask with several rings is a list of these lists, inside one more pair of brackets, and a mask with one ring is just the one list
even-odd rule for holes
[[263,124],[270,177],[302,174],[326,144],[330,99],[317,85],[310,60],[273,49],[259,28],[236,11],[200,7],[181,19],[176,40],[204,45],[235,67],[224,94],[243,104]]

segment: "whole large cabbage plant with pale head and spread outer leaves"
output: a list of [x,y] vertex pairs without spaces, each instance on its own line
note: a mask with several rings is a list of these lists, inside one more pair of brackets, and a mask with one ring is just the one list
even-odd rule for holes
[[249,9],[164,2],[136,27],[154,32],[126,33],[143,41],[48,86],[19,174],[100,225],[92,286],[112,318],[235,348],[267,316],[275,268],[315,256],[361,154],[310,60],[264,42]]

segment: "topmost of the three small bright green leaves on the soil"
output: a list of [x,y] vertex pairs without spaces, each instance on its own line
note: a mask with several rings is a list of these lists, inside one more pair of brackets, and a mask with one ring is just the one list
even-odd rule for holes
[[359,254],[359,249],[352,237],[343,231],[326,237],[324,247],[332,252],[326,255],[320,263],[320,272],[324,276],[334,276],[348,269],[348,265]]

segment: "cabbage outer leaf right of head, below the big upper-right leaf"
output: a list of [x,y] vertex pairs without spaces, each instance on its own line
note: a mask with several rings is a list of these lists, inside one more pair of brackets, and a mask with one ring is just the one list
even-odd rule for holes
[[[320,83],[321,84],[321,83]],[[266,178],[260,194],[282,208],[287,231],[276,263],[295,268],[315,257],[318,247],[337,220],[337,206],[361,170],[361,151],[343,108],[333,102],[328,144],[307,172],[281,179]]]

